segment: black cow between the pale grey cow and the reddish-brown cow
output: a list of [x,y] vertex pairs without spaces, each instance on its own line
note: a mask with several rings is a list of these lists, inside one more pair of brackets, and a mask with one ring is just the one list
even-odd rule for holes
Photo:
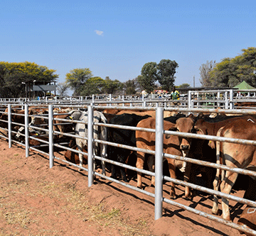
[[[110,118],[109,123],[113,125],[126,125],[126,126],[132,126],[136,127],[137,123],[139,123],[140,120],[149,118],[148,115],[146,116],[138,116],[136,114],[128,114],[124,113],[122,115],[116,115]],[[109,132],[109,141],[110,142],[115,142],[121,145],[128,145],[132,147],[136,147],[136,140],[135,140],[135,131],[134,130],[125,130],[122,128],[108,128]],[[125,163],[127,162],[127,159],[129,157],[137,157],[137,155],[134,155],[134,152],[125,149],[122,147],[114,147],[109,145],[108,146],[108,152],[109,158],[120,163]],[[132,159],[132,158],[129,158]],[[115,165],[112,165],[112,178],[116,179],[117,178],[117,169],[118,172],[121,174],[121,178],[123,181],[128,182],[126,173],[124,171],[124,168],[117,167]]]

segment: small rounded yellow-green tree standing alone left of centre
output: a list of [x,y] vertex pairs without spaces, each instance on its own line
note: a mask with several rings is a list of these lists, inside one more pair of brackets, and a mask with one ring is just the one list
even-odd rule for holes
[[66,74],[65,82],[68,84],[70,89],[74,90],[74,96],[80,96],[82,93],[83,85],[92,77],[92,72],[89,68],[77,68],[70,70]]

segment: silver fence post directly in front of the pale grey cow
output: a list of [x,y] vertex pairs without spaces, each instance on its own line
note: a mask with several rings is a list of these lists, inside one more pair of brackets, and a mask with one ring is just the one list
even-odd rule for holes
[[93,184],[93,108],[92,106],[87,107],[88,111],[88,140],[87,140],[87,154],[88,154],[88,187],[92,186]]

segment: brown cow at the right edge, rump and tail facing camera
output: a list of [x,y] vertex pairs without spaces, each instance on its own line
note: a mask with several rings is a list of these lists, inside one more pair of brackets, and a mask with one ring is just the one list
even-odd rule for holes
[[[256,140],[256,124],[244,119],[236,119],[232,123],[225,125],[218,130],[218,137],[230,137],[245,140]],[[256,147],[255,145],[242,145],[230,142],[216,142],[217,164],[225,164],[231,168],[250,169],[256,171]],[[220,177],[221,175],[221,177]],[[229,194],[238,173],[217,169],[213,186],[215,191]],[[252,179],[256,179],[252,176]],[[221,184],[220,184],[221,182]],[[228,199],[222,198],[223,218],[230,220],[230,210],[228,208]],[[218,198],[214,196],[213,214],[218,213]]]

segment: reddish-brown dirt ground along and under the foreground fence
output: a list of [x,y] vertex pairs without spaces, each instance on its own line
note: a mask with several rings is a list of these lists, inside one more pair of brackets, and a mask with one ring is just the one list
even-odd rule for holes
[[[48,157],[0,140],[0,235],[240,235],[238,230],[215,223],[164,203],[163,217],[154,220],[154,198],[103,179],[87,187],[87,173]],[[143,178],[146,191],[149,179]],[[136,186],[135,181],[129,184]],[[178,203],[211,212],[212,198],[199,194]],[[239,191],[238,196],[243,192]],[[164,197],[169,198],[169,184]],[[234,222],[245,206],[230,203]]]

